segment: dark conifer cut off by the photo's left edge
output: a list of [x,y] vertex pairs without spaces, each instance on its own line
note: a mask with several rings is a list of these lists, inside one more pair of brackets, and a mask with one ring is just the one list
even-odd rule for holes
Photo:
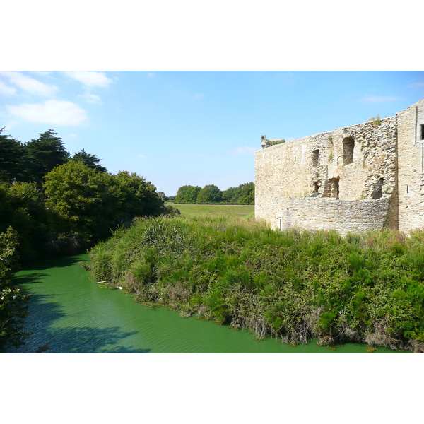
[[23,179],[23,144],[11,136],[1,134],[0,129],[0,182],[12,183]]

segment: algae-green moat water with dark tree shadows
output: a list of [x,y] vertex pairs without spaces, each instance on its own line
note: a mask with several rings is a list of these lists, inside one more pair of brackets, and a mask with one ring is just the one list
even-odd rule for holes
[[[290,347],[248,331],[181,318],[166,307],[140,305],[120,290],[99,288],[78,261],[88,255],[42,261],[16,273],[31,294],[25,331],[32,334],[8,353],[367,353],[359,344],[336,350],[311,342]],[[394,353],[378,348],[374,353]]]

